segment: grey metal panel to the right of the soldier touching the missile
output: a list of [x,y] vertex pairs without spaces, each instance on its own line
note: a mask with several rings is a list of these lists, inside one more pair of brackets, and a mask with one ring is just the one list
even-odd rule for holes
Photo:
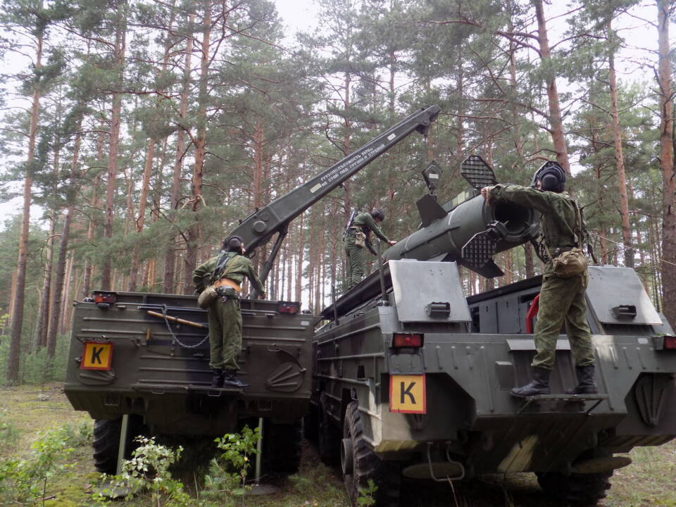
[[[589,266],[587,301],[601,323],[662,324],[639,275],[631,268]],[[612,308],[620,305],[636,306],[636,317],[631,320],[615,318]]]

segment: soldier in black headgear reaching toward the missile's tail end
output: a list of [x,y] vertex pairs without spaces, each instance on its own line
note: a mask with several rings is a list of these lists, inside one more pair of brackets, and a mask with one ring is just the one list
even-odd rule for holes
[[550,393],[549,374],[554,365],[556,339],[564,321],[578,380],[570,394],[598,392],[594,380],[592,335],[587,324],[587,305],[584,301],[587,269],[570,278],[558,277],[553,273],[552,259],[581,243],[580,236],[583,234],[580,210],[575,201],[563,194],[564,184],[565,173],[561,166],[548,162],[533,175],[531,187],[496,184],[481,190],[487,203],[511,202],[535,208],[542,213],[540,225],[548,253],[543,256],[546,264],[534,332],[537,353],[531,363],[532,380],[525,386],[511,390],[511,394],[518,398]]

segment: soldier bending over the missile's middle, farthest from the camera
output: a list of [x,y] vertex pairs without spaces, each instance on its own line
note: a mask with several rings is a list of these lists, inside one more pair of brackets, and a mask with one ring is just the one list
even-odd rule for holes
[[390,245],[396,244],[396,241],[387,239],[387,236],[382,232],[378,225],[385,219],[385,214],[382,210],[374,208],[368,213],[364,211],[356,215],[350,227],[346,230],[344,237],[345,254],[347,256],[347,288],[351,289],[356,284],[361,282],[365,272],[365,248],[368,248],[373,255],[377,255],[377,251],[371,244],[371,232],[387,242]]

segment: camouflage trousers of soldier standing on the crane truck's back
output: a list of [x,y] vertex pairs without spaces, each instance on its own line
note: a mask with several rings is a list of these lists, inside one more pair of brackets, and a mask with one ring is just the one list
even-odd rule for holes
[[239,370],[237,357],[242,350],[242,311],[239,298],[220,296],[209,307],[209,368]]

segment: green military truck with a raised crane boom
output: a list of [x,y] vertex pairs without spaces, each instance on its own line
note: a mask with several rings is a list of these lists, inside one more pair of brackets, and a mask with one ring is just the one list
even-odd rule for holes
[[[256,209],[231,234],[247,251],[277,235],[265,280],[289,223],[412,132],[439,106],[421,108],[317,176]],[[75,304],[65,394],[94,418],[94,461],[115,472],[134,434],[222,435],[263,418],[268,470],[294,472],[311,395],[313,316],[297,301],[244,298],[241,375],[249,389],[213,389],[206,311],[195,296],[96,291]]]

